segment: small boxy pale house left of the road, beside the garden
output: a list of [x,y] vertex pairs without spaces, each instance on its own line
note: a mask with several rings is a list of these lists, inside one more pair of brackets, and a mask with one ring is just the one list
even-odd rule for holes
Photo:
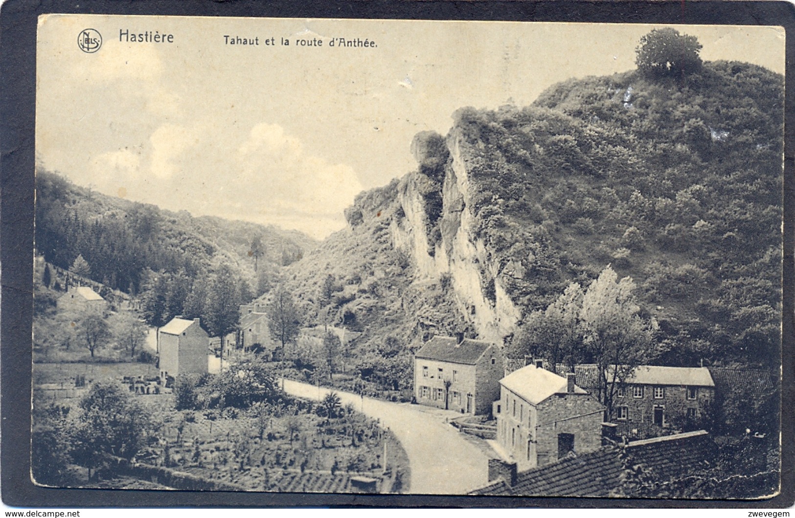
[[161,383],[180,374],[207,373],[207,349],[210,339],[200,319],[175,317],[159,331]]

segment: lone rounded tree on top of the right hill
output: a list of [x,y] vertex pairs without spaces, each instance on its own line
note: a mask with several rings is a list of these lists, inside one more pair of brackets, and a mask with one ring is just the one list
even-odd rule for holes
[[701,44],[695,36],[680,34],[677,29],[652,29],[635,49],[638,70],[652,76],[679,76],[701,68]]

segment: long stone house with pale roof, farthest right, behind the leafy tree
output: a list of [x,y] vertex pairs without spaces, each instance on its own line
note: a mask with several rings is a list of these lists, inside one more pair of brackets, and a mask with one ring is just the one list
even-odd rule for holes
[[613,419],[665,428],[675,419],[697,419],[714,400],[706,367],[638,365],[616,389]]

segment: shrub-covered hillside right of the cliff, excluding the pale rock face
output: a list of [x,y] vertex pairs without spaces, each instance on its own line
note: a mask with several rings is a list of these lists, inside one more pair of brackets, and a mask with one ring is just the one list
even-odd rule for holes
[[751,64],[572,79],[463,109],[479,238],[525,315],[610,263],[661,326],[658,361],[775,361],[783,83]]

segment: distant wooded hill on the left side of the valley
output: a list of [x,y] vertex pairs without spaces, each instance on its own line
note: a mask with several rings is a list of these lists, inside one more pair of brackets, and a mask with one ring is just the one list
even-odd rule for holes
[[273,273],[316,246],[299,232],[173,213],[91,191],[45,170],[36,176],[35,238],[46,261],[70,269],[82,257],[88,277],[130,294],[143,290],[149,271],[193,279],[222,263],[257,290],[255,239],[261,273]]

